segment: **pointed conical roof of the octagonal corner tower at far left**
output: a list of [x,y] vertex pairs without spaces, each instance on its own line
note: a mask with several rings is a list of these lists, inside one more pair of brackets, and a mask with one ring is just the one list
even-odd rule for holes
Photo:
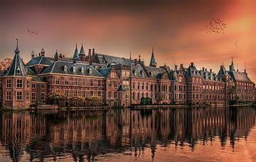
[[9,70],[6,73],[6,76],[23,76],[26,77],[26,70],[24,68],[24,63],[21,60],[20,51],[18,50],[18,44],[17,48],[15,50],[15,55],[13,60],[11,61],[11,65],[9,66]]

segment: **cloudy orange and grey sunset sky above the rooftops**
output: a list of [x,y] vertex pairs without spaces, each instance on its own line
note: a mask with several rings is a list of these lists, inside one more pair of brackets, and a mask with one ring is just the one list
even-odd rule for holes
[[[42,47],[71,57],[78,43],[124,58],[131,51],[149,65],[154,46],[158,66],[193,62],[218,72],[234,58],[235,70],[246,63],[256,82],[255,15],[255,0],[1,0],[0,60],[13,57],[16,38],[25,62]],[[206,32],[212,18],[226,23],[225,33]]]

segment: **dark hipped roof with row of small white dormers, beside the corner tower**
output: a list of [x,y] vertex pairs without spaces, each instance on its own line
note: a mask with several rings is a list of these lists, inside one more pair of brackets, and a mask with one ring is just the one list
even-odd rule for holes
[[[64,67],[67,68],[67,72],[64,71]],[[75,68],[75,72],[73,69]],[[82,72],[82,68],[84,72]],[[90,70],[92,70],[92,74],[90,74]],[[58,73],[58,74],[69,74],[69,75],[87,75],[94,77],[102,77],[100,72],[98,72],[95,68],[86,63],[73,63],[65,60],[58,60],[50,65],[46,70],[43,70],[40,75],[46,73]]]

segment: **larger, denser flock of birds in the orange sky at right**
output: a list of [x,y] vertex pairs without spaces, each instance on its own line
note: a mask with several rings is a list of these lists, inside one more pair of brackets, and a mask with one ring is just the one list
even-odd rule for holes
[[209,23],[206,24],[206,33],[225,33],[225,27],[227,26],[220,18],[213,18]]

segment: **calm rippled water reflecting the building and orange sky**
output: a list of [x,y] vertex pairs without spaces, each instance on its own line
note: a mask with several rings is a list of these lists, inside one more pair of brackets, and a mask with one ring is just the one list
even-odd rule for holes
[[256,109],[0,112],[0,161],[256,161]]

